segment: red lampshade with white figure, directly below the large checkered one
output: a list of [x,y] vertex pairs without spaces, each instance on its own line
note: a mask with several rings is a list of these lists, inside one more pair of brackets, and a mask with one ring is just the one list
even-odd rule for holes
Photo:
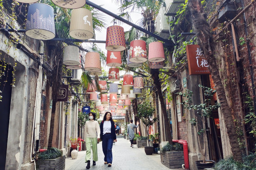
[[121,52],[107,51],[107,66],[119,67],[122,65]]

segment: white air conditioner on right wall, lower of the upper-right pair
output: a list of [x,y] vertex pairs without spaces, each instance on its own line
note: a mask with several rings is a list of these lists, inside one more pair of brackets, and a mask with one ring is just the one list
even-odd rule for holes
[[159,36],[168,39],[170,36],[169,32],[169,18],[164,15],[164,8],[161,7],[156,17],[156,31],[159,32]]

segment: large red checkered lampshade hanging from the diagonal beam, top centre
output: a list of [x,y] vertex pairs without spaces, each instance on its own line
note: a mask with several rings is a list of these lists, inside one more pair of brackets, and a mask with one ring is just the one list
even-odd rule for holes
[[124,28],[113,25],[107,28],[106,50],[117,52],[125,50]]

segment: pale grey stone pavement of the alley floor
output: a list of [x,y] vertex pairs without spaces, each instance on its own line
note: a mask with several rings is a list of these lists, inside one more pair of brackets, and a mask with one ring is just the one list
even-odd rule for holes
[[[98,161],[96,166],[92,166],[90,170],[181,170],[169,169],[165,167],[160,160],[160,155],[146,155],[144,148],[130,148],[130,142],[126,139],[117,138],[117,142],[113,145],[113,162],[112,167],[104,164],[104,155],[102,152],[102,143],[98,144]],[[85,170],[85,154],[86,151],[79,151],[78,158],[72,160],[71,157],[66,158],[65,170]]]

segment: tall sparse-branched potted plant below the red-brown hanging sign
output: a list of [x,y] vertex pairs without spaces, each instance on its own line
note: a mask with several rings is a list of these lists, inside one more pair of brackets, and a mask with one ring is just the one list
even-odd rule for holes
[[[206,160],[206,119],[209,119],[211,116],[211,113],[213,110],[216,110],[220,107],[219,103],[212,104],[211,98],[216,93],[216,90],[211,89],[210,87],[204,87],[202,85],[198,85],[203,89],[204,93],[204,103],[198,104],[198,105],[191,105],[192,103],[192,91],[186,90],[185,93],[179,92],[178,94],[183,97],[182,105],[184,108],[188,110],[196,110],[196,114],[198,114],[198,117],[195,116],[195,118],[192,118],[189,120],[189,122],[196,127],[197,133],[198,133],[198,141],[199,141],[199,135],[203,134],[203,149],[201,147],[201,143],[199,142],[199,148],[201,150],[202,154],[202,160],[196,161],[196,166],[198,169],[200,168],[211,168],[214,166],[215,161],[213,160]],[[185,100],[186,99],[186,100]],[[202,127],[201,125],[197,124],[198,118],[202,121]]]

